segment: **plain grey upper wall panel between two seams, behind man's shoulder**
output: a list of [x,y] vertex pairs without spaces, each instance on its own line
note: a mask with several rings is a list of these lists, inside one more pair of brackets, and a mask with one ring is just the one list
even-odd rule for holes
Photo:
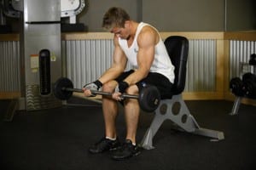
[[223,31],[223,0],[143,0],[143,20],[160,31]]

